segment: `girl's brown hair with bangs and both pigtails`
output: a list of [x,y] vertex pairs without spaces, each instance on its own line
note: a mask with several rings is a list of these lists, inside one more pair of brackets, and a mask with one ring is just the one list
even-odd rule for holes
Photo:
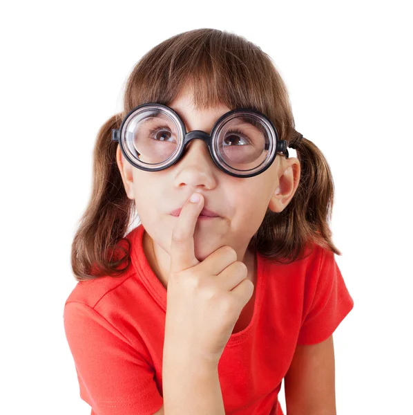
[[[145,102],[168,105],[189,85],[193,86],[196,109],[221,103],[231,109],[257,109],[274,123],[278,137],[288,145],[294,145],[299,136],[285,83],[260,47],[242,36],[211,28],[180,33],[158,44],[128,77],[124,111],[109,118],[97,134],[93,190],[72,245],[77,281],[117,277],[131,262],[130,243],[125,237],[136,213],[135,201],[128,199],[124,190],[112,129],[119,128],[134,107]],[[334,183],[327,160],[305,138],[297,148],[297,158],[301,176],[294,197],[280,213],[267,209],[250,246],[273,261],[287,259],[287,264],[312,243],[341,255],[332,242],[328,223]],[[122,264],[126,266],[119,268]]]

